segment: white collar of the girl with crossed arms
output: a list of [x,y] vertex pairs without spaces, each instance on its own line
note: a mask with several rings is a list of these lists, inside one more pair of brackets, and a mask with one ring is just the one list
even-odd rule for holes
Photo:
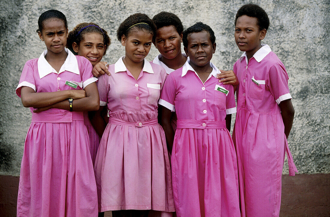
[[[58,74],[64,71],[69,71],[79,75],[78,61],[76,56],[69,49],[64,48],[64,50],[67,52],[68,56],[66,57]],[[57,73],[45,59],[46,54],[47,50],[45,50],[38,59],[38,72],[40,78],[43,78],[52,72]]]

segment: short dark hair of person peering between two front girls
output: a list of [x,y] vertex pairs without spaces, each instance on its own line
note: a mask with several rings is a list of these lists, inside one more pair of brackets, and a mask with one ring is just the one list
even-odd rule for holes
[[174,26],[179,35],[183,33],[182,22],[179,17],[173,13],[162,11],[153,16],[152,20],[155,22],[157,29],[164,26]]

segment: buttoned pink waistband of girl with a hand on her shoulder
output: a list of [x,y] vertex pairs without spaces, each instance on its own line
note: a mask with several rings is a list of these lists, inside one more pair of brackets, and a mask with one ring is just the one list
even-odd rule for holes
[[177,120],[177,129],[182,129],[182,128],[222,129],[222,128],[226,128],[226,121]]

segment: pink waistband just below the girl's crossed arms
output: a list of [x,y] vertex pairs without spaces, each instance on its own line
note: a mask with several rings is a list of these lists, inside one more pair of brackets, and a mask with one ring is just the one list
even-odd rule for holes
[[70,123],[72,121],[83,121],[82,111],[68,111],[57,113],[32,113],[31,122],[43,123]]

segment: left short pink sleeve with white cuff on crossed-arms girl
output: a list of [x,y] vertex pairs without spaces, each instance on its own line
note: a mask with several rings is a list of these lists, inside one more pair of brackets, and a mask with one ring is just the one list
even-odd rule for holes
[[34,79],[34,71],[33,71],[33,60],[29,60],[25,63],[23,67],[23,71],[21,77],[19,78],[19,83],[16,87],[17,96],[21,97],[21,87],[31,87],[34,91],[36,91],[36,82]]

